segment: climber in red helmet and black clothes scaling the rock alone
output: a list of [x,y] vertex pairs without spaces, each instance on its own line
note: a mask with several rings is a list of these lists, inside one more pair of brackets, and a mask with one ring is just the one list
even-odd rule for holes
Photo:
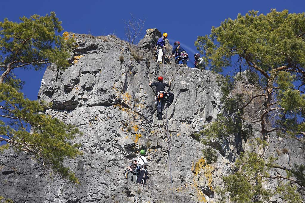
[[[169,107],[174,100],[174,94],[170,92],[170,83],[172,81],[170,80],[169,83],[163,82],[163,77],[158,77],[158,82],[151,82],[149,83],[149,86],[156,86],[156,97],[155,97],[155,104],[157,108],[157,116],[158,119],[162,119],[162,109]],[[165,92],[165,87],[168,87],[167,92]]]

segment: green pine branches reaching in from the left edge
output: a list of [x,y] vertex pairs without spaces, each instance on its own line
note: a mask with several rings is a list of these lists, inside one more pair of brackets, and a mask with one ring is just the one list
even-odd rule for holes
[[0,22],[0,152],[10,146],[33,154],[43,165],[60,177],[78,184],[65,159],[74,159],[81,152],[80,144],[72,140],[81,132],[73,125],[44,114],[52,104],[31,101],[21,92],[23,82],[13,75],[15,68],[34,68],[55,64],[69,66],[67,61],[73,39],[56,35],[63,30],[55,13],[20,18],[20,23],[8,19]]

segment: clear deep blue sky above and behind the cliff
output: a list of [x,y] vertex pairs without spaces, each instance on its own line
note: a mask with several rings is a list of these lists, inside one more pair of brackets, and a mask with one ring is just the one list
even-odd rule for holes
[[[144,19],[145,30],[157,28],[168,33],[172,44],[178,40],[190,58],[196,52],[194,41],[197,36],[209,34],[212,26],[219,26],[226,18],[235,19],[238,13],[249,10],[268,13],[270,9],[289,12],[304,12],[305,1],[2,1],[0,20],[8,18],[18,22],[20,16],[33,14],[44,16],[55,11],[63,22],[64,31],[92,35],[115,34],[126,39],[123,19],[130,19],[130,13]],[[193,61],[188,62],[193,67]],[[37,99],[43,71],[15,70],[14,73],[26,82],[23,92],[31,100]]]

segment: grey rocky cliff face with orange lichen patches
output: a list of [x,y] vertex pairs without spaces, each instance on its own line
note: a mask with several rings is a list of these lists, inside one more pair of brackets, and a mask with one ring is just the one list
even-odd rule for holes
[[[162,75],[164,82],[173,80],[175,96],[167,111],[174,201],[216,202],[213,191],[222,186],[221,177],[232,172],[238,151],[247,147],[246,140],[236,135],[223,144],[217,163],[205,164],[204,145],[193,135],[221,111],[216,74],[183,65],[158,67],[151,59],[151,47],[159,35],[158,30],[147,30],[140,41],[144,59],[138,62],[128,44],[116,37],[70,34],[78,45],[71,54],[73,65],[66,71],[48,67],[38,98],[53,103],[47,114],[84,132],[75,140],[82,143],[83,156],[67,160],[81,185],[51,178],[30,156],[10,149],[0,158],[0,194],[16,202],[136,202],[137,184],[127,183],[124,171],[130,159],[145,149],[149,179],[141,191],[142,202],[171,202],[167,146],[156,120],[154,93],[148,86]],[[166,119],[160,126],[167,139]],[[304,161],[301,145],[293,140],[274,137],[269,153],[284,147],[290,150],[278,160],[283,166]]]

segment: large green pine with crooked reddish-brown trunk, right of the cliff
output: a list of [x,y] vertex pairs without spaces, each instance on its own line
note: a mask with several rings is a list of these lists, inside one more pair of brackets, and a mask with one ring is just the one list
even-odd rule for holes
[[[303,202],[305,166],[280,167],[276,152],[270,158],[266,151],[272,132],[305,140],[305,13],[272,9],[266,15],[238,14],[212,27],[210,35],[199,36],[195,45],[206,67],[217,73],[231,71],[218,78],[225,113],[199,136],[213,150],[218,150],[215,143],[239,133],[251,143],[235,162],[234,173],[223,177],[224,188],[218,190],[222,202],[227,197],[238,203],[264,202],[275,195]],[[253,138],[245,124],[259,125],[260,138]],[[264,187],[271,180],[278,181],[276,190]]]

